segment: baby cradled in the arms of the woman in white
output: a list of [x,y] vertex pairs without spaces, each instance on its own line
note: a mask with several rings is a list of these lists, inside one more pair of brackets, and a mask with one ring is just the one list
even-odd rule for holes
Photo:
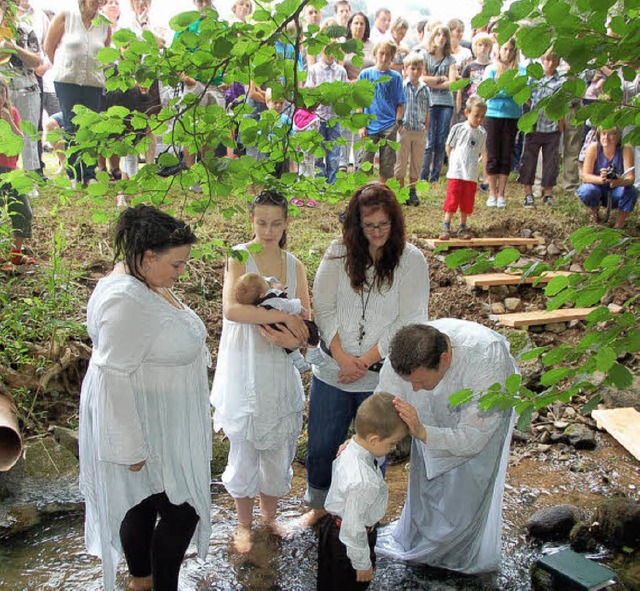
[[[235,285],[236,300],[239,304],[262,306],[267,309],[276,309],[292,315],[304,315],[307,311],[302,308],[302,302],[298,298],[287,297],[284,286],[275,277],[262,277],[257,273],[245,273],[238,277]],[[285,349],[293,365],[298,371],[305,372],[311,369],[311,363],[320,365],[323,361],[322,353],[318,348],[320,336],[318,327],[312,320],[306,320],[309,329],[307,360],[299,349]]]

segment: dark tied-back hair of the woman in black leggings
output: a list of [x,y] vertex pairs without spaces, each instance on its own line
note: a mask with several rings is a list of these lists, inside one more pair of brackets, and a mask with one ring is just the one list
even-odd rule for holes
[[162,253],[197,240],[191,227],[182,220],[151,205],[136,205],[125,209],[118,218],[113,261],[124,258],[129,273],[146,284],[141,267],[147,250]]

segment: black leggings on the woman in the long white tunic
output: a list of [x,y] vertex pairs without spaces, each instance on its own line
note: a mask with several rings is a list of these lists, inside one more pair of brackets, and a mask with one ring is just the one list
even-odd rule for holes
[[131,575],[153,575],[154,591],[177,591],[180,565],[198,519],[191,505],[174,505],[165,493],[129,509],[120,524],[120,541]]

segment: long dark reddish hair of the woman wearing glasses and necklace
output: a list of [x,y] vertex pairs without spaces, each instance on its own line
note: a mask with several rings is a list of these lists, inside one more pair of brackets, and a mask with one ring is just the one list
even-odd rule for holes
[[[389,238],[382,254],[374,261],[369,253],[369,240],[362,229],[362,210],[382,209],[391,222]],[[391,287],[393,276],[404,251],[406,238],[404,215],[395,193],[384,184],[367,183],[360,187],[349,201],[342,228],[342,242],[347,249],[345,270],[351,287],[361,292],[367,284],[367,269],[374,265],[375,287],[380,290],[386,283]],[[371,285],[369,288],[373,288]]]

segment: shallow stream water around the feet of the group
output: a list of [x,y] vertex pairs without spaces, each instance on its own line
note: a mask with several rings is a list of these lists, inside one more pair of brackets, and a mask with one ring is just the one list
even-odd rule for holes
[[[403,499],[406,476],[402,466],[387,474],[392,499]],[[281,520],[293,521],[304,511],[303,469],[296,467],[292,495],[282,502]],[[316,535],[304,530],[288,540],[258,532],[247,556],[238,555],[229,540],[235,516],[224,488],[212,486],[213,532],[206,561],[189,550],[181,572],[181,591],[311,591],[315,589]],[[392,503],[398,504],[397,500]],[[399,508],[391,507],[397,514]],[[423,566],[380,559],[371,591],[449,591],[530,589],[528,568],[534,552],[505,523],[503,563],[497,576],[465,577]],[[121,565],[118,589],[124,589]],[[10,538],[0,539],[0,589],[2,591],[99,591],[100,562],[84,551],[81,513],[51,518]]]

